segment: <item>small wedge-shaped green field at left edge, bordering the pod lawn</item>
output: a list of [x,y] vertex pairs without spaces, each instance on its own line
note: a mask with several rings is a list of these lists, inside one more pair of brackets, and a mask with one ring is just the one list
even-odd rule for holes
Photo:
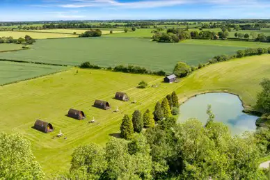
[[67,69],[67,67],[0,61],[0,85],[31,79],[63,69]]

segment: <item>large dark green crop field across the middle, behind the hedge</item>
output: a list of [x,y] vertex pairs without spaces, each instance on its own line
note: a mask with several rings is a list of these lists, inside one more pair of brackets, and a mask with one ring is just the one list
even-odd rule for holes
[[178,61],[198,65],[214,56],[235,54],[244,48],[241,45],[158,43],[143,38],[72,38],[38,40],[31,50],[2,53],[0,58],[61,65],[80,65],[86,61],[103,67],[139,65],[170,73]]

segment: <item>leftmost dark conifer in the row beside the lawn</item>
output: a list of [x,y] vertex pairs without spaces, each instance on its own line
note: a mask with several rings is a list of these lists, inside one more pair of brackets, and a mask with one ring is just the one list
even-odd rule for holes
[[120,136],[126,140],[130,140],[133,137],[134,128],[132,120],[129,119],[128,115],[125,115],[122,119],[122,124],[120,126]]

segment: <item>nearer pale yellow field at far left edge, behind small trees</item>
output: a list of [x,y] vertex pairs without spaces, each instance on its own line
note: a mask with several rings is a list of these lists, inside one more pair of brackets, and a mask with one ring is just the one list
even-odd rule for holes
[[25,35],[30,35],[34,39],[49,39],[49,38],[76,38],[78,35],[61,34],[61,33],[36,33],[27,31],[0,31],[0,37],[12,36],[14,39],[24,38]]

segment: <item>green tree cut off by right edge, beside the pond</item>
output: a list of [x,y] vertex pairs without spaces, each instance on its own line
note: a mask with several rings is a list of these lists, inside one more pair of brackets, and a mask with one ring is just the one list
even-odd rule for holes
[[256,108],[262,113],[270,113],[270,79],[263,79],[260,85],[262,91],[257,94]]

